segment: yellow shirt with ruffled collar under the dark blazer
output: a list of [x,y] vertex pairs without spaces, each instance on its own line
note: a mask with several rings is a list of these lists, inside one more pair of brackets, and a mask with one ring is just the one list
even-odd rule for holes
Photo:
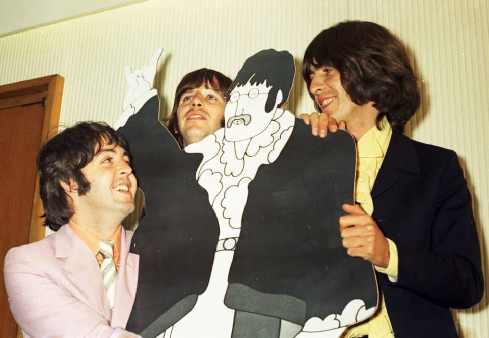
[[[384,161],[392,136],[392,128],[386,117],[382,120],[381,127],[382,130],[378,130],[376,126],[372,127],[357,142],[358,161],[355,201],[360,203],[362,209],[369,215],[373,213],[373,202],[370,192]],[[397,247],[393,241],[387,240],[390,250],[389,265],[387,268],[374,267],[378,272],[387,274],[391,280],[396,280],[398,266]],[[382,293],[379,294],[379,306],[375,314],[367,321],[347,329],[343,337],[354,338],[364,335],[368,335],[371,338],[394,337]]]

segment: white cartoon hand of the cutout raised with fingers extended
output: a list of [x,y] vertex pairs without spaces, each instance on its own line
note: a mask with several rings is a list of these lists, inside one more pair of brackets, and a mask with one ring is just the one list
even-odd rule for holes
[[131,115],[137,113],[149,98],[157,94],[156,90],[153,89],[153,85],[156,66],[162,51],[163,48],[159,47],[154,52],[148,65],[135,69],[133,72],[129,66],[125,67],[128,88],[122,103],[123,112],[114,123],[114,129],[124,126]]

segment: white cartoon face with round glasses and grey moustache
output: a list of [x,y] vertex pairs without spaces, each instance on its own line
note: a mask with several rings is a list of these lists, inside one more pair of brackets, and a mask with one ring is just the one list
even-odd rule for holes
[[266,86],[266,81],[258,85],[247,82],[234,88],[224,112],[227,141],[238,142],[252,138],[268,127],[278,102],[282,100],[282,92],[279,90],[274,108],[266,112],[265,104],[270,89],[271,87]]

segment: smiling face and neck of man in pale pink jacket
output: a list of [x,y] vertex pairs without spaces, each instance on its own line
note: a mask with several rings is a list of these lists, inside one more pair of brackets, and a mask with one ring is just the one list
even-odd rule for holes
[[129,165],[129,156],[122,147],[103,142],[102,149],[81,172],[90,183],[90,189],[84,195],[71,195],[74,219],[122,221],[134,211],[134,196],[138,186]]

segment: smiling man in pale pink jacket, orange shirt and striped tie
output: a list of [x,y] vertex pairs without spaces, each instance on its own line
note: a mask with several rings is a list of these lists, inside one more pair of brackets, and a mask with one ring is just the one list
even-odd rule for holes
[[24,337],[138,337],[124,330],[139,264],[121,226],[137,189],[128,144],[80,122],[42,147],[37,168],[44,224],[56,232],[12,248],[4,268]]

